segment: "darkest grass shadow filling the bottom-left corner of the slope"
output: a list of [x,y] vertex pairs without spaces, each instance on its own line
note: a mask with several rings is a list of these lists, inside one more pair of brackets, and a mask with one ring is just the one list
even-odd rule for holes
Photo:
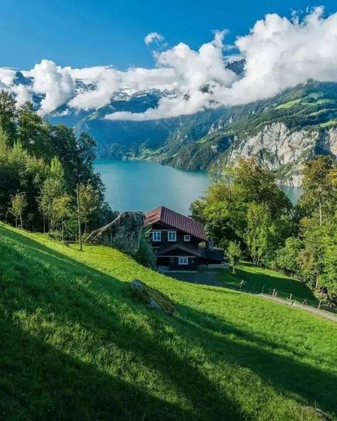
[[73,358],[8,320],[0,329],[1,420],[193,419],[181,406]]

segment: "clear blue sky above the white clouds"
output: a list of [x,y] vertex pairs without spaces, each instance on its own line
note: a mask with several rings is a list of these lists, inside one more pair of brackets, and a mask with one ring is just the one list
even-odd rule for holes
[[73,67],[149,67],[149,32],[161,33],[169,46],[198,48],[215,29],[230,30],[232,42],[267,13],[290,16],[319,4],[327,13],[337,10],[336,0],[1,0],[0,66],[29,69],[48,58]]

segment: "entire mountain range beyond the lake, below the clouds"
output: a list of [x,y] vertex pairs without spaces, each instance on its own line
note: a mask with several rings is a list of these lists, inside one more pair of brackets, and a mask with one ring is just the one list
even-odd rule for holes
[[[227,67],[242,75],[245,60]],[[32,85],[17,72],[15,85]],[[96,90],[95,83],[75,80],[75,92]],[[197,114],[150,121],[112,121],[113,112],[144,112],[172,91],[123,89],[98,110],[74,110],[62,105],[47,117],[76,133],[89,132],[97,142],[97,157],[148,159],[181,169],[220,169],[237,156],[256,156],[274,170],[279,183],[299,186],[304,160],[317,154],[337,156],[337,83],[309,80],[267,100],[220,107]],[[34,95],[38,108],[42,95]]]

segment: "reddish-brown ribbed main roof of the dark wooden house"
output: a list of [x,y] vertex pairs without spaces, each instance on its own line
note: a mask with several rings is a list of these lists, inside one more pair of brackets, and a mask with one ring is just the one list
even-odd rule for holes
[[159,208],[149,210],[149,212],[145,213],[145,225],[152,225],[154,223],[169,225],[170,228],[176,228],[176,230],[183,231],[186,234],[206,241],[202,223],[164,206],[159,206]]

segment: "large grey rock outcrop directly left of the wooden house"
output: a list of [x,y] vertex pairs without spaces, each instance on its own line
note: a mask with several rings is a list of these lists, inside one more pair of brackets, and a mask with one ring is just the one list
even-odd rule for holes
[[86,243],[105,244],[136,255],[145,216],[141,212],[123,212],[115,220],[92,231]]

